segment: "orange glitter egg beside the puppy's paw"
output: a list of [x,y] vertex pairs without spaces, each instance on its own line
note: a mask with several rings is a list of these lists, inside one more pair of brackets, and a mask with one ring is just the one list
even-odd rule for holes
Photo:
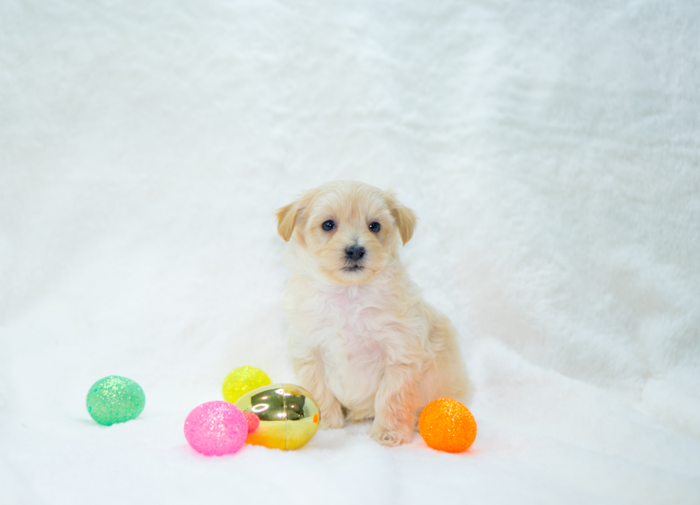
[[476,421],[464,404],[440,398],[425,406],[418,420],[425,443],[445,452],[463,452],[476,439]]

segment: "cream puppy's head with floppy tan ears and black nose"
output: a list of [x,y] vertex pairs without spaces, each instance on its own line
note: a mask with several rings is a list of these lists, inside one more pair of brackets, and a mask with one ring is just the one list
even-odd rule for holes
[[279,235],[292,239],[314,258],[321,275],[339,285],[381,272],[415,224],[414,213],[391,193],[356,182],[322,185],[277,211]]

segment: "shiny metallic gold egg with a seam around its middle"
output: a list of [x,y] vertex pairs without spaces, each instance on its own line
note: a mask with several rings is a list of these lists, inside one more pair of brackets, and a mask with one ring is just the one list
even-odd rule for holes
[[269,384],[247,392],[235,403],[260,419],[246,444],[284,451],[299,449],[319,429],[321,413],[311,393],[294,384]]

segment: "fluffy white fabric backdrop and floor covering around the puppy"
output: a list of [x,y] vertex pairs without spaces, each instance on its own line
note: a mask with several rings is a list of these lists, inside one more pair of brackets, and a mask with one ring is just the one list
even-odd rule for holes
[[[3,1],[0,503],[700,501],[700,9],[579,4]],[[476,442],[199,456],[229,370],[296,381],[274,210],[334,179],[419,216]]]

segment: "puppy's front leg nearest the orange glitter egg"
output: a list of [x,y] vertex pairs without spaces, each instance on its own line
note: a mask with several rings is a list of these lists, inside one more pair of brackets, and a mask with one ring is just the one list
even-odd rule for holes
[[374,399],[374,423],[369,435],[387,446],[411,442],[418,420],[419,369],[415,364],[386,368]]

